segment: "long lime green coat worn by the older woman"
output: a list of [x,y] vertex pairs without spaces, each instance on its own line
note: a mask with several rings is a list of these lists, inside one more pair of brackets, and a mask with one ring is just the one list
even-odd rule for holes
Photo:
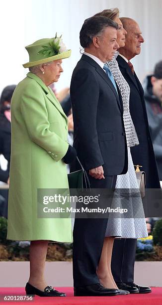
[[70,218],[38,218],[38,188],[68,188],[68,120],[54,93],[29,72],[11,101],[8,232],[11,240],[72,242]]

